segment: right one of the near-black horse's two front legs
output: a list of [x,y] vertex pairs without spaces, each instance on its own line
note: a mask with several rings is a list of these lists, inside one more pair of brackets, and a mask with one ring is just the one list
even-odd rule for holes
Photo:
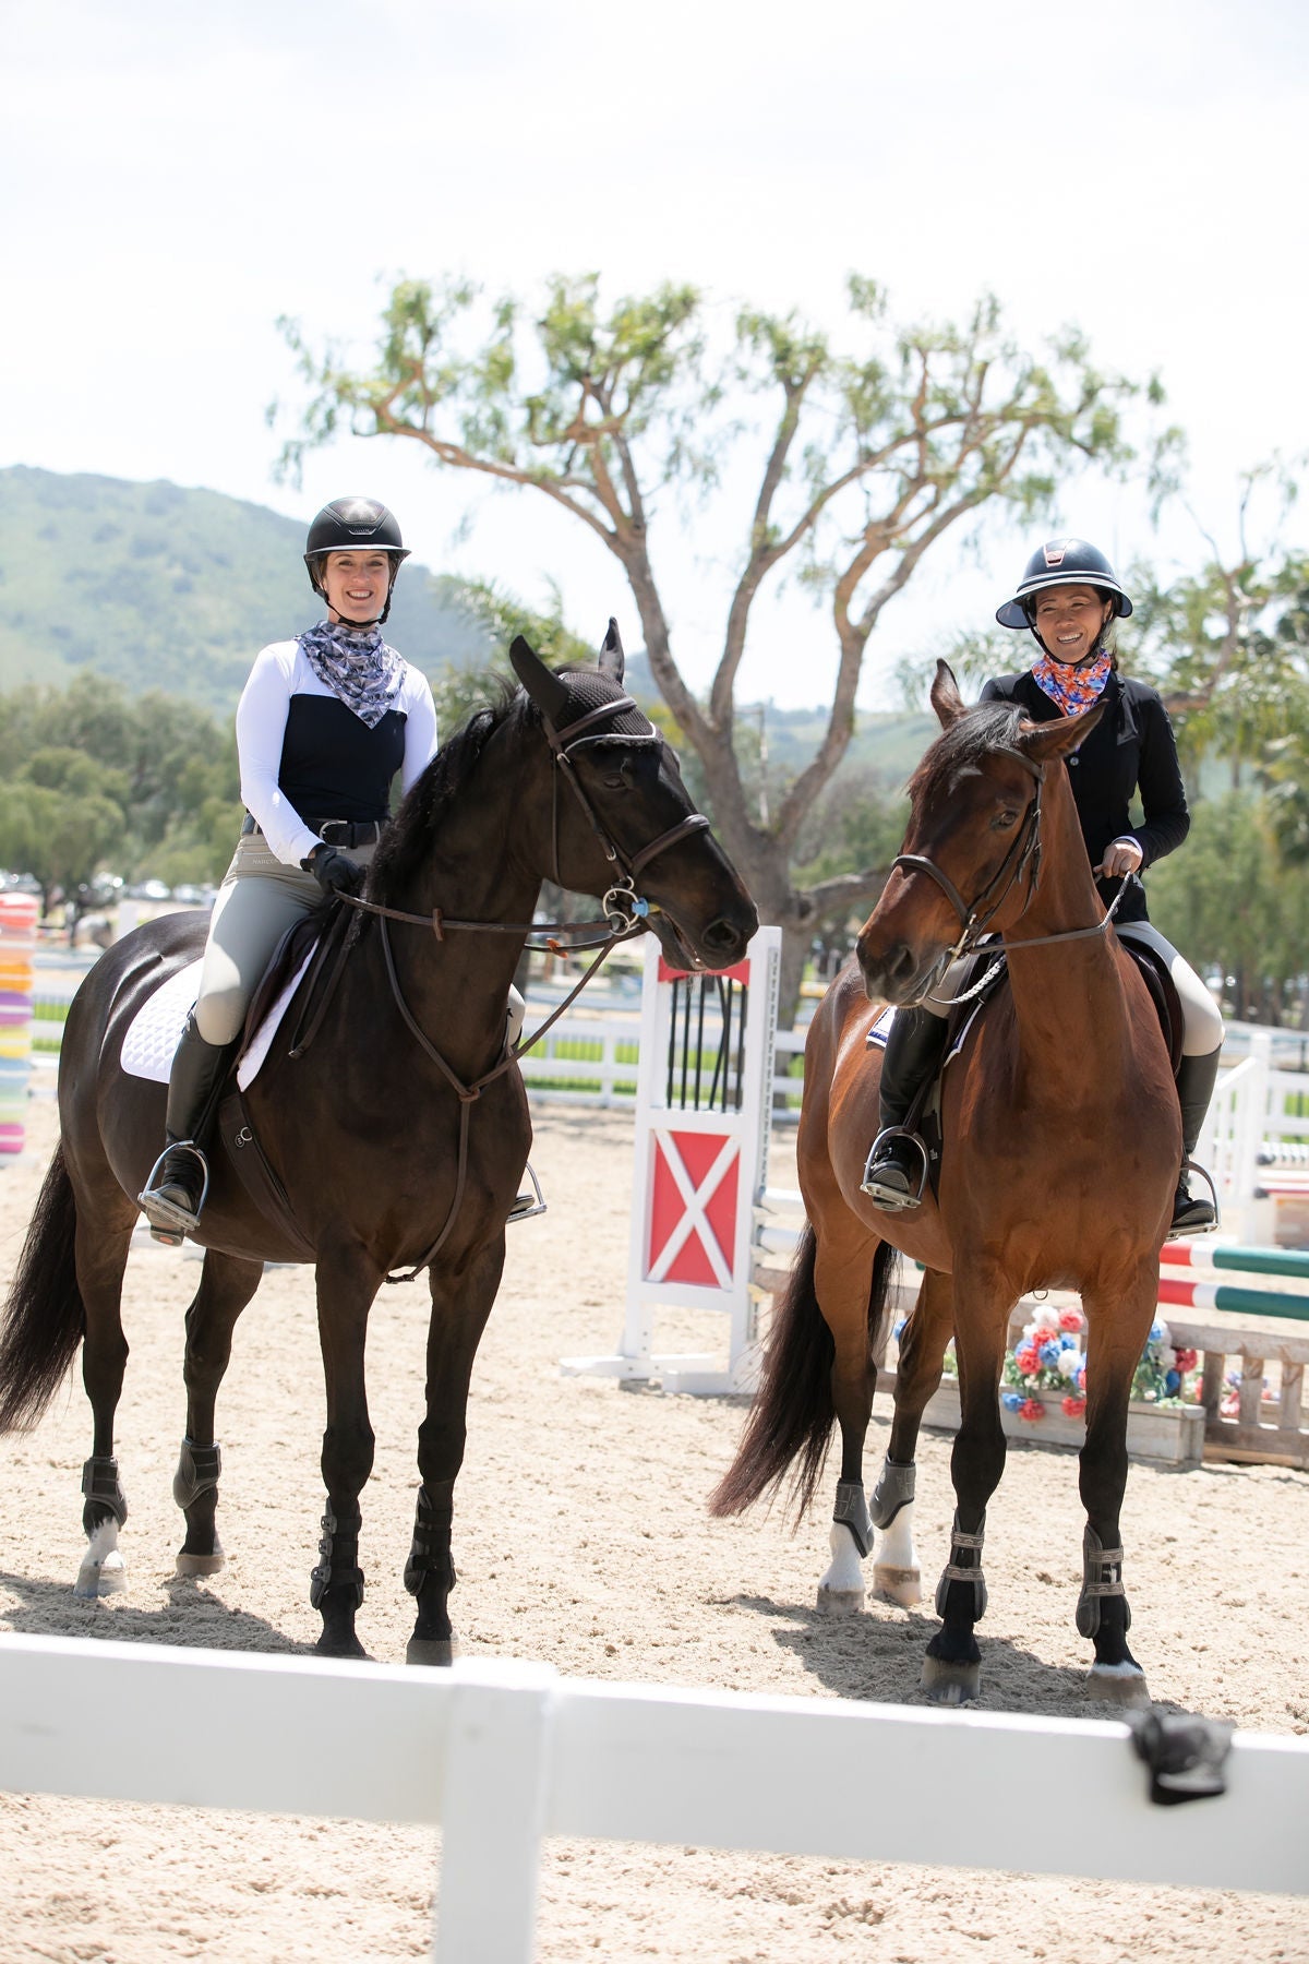
[[422,1485],[414,1506],[414,1540],[404,1563],[404,1587],[418,1601],[406,1664],[449,1664],[455,1634],[449,1591],[455,1563],[449,1550],[455,1479],[467,1440],[469,1381],[481,1334],[500,1286],[504,1231],[461,1271],[430,1271],[428,1410],[418,1428]]

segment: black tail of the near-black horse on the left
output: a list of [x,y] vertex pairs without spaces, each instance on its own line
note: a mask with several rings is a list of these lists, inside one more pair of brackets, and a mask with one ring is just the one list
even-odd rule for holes
[[0,1432],[35,1426],[77,1357],[86,1310],[77,1286],[75,1233],[77,1200],[57,1145],[0,1328]]

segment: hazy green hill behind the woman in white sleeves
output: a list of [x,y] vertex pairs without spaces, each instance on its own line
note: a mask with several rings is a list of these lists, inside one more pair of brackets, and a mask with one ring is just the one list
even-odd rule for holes
[[[304,524],[220,491],[0,469],[0,689],[79,668],[232,711],[257,650],[322,619]],[[491,650],[408,560],[387,634],[430,676]]]

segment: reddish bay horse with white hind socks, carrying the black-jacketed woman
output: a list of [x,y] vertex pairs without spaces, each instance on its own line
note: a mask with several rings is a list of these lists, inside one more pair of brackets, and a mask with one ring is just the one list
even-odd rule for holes
[[[968,709],[940,662],[932,707],[942,736],[909,786],[903,852],[860,935],[858,966],[836,978],[809,1033],[799,1176],[811,1226],[775,1314],[758,1402],[710,1504],[740,1512],[775,1493],[799,1459],[795,1495],[807,1506],[836,1418],[842,1465],[818,1603],[862,1607],[873,1526],[877,1587],[916,1603],[915,1446],[954,1337],[958,1506],[922,1683],[942,1703],[975,1695],[985,1510],[1005,1465],[997,1387],[1009,1316],[1026,1290],[1079,1290],[1089,1326],[1087,1526],[1075,1620],[1095,1646],[1089,1689],[1138,1701],[1144,1675],[1126,1642],[1119,1532],[1126,1404],[1158,1302],[1181,1119],[1146,986],[1105,927],[1064,764],[1101,705],[1040,727],[1009,703]],[[922,1000],[962,939],[985,929],[1003,935],[1011,986],[985,1006],[946,1070],[940,1198],[928,1188],[918,1210],[885,1214],[860,1192],[881,1063],[865,1049],[869,998]],[[895,1420],[869,1520],[864,1438],[897,1249],[926,1275],[901,1334]]]

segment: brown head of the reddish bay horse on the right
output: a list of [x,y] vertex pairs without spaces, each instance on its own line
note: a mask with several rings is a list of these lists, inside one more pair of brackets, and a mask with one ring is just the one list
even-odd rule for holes
[[1105,705],[1040,725],[1026,723],[1015,703],[969,709],[950,666],[938,662],[932,709],[942,735],[909,782],[909,831],[860,933],[873,1000],[918,1002],[966,931],[1003,933],[1019,921],[1040,870],[1046,766],[1072,756]]

